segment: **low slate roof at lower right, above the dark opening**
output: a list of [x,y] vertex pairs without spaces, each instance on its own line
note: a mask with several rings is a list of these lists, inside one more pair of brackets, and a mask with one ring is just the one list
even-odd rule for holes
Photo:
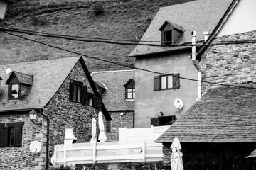
[[156,142],[256,142],[256,89],[210,89]]

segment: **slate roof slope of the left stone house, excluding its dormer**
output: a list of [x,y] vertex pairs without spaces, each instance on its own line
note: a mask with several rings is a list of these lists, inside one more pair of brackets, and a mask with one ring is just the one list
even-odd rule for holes
[[[58,60],[42,60],[36,62],[21,62],[18,64],[0,65],[3,82],[9,76],[6,69],[10,68],[18,79],[23,75],[33,75],[33,86],[21,100],[8,101],[8,86],[2,84],[0,94],[0,111],[12,111],[27,108],[43,108],[53,97],[65,78],[75,66],[80,57],[69,57]],[[23,78],[21,78],[23,79]],[[24,81],[24,79],[23,79]],[[29,82],[27,82],[29,83]]]

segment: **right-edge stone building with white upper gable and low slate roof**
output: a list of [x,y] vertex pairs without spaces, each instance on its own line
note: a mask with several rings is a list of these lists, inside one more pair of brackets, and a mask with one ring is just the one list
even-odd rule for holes
[[156,140],[163,142],[166,166],[178,137],[186,169],[255,169],[246,158],[255,157],[256,147],[255,6],[256,1],[232,1],[208,45],[198,49],[202,80],[213,84],[204,82],[201,100]]

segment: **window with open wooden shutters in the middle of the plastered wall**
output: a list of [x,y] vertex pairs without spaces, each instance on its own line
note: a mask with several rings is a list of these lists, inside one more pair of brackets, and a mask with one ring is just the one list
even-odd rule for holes
[[180,84],[179,74],[162,74],[154,77],[154,91],[179,89]]

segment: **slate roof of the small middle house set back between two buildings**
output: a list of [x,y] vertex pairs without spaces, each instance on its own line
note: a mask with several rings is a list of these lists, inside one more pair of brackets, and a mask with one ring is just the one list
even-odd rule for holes
[[92,72],[91,75],[92,79],[97,82],[102,82],[107,88],[102,95],[102,101],[107,111],[134,110],[135,101],[125,100],[124,88],[124,84],[126,84],[129,79],[135,79],[134,69]]

